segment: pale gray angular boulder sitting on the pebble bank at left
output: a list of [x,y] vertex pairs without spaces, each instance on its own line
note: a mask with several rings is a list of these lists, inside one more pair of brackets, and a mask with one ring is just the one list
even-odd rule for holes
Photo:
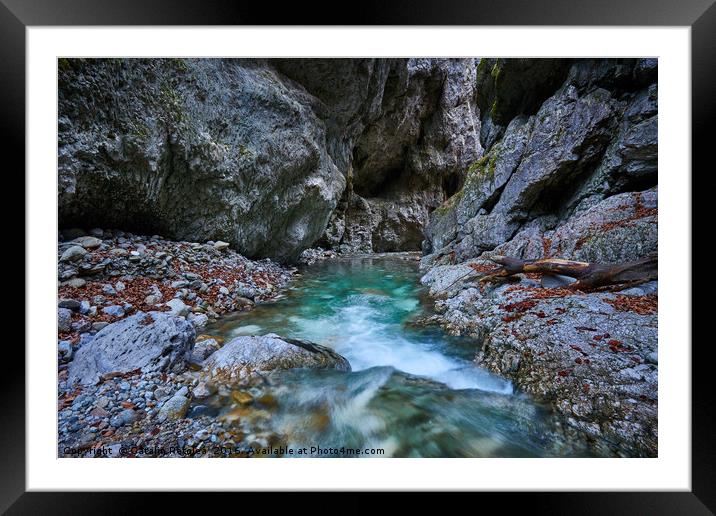
[[183,318],[138,313],[105,326],[82,346],[70,363],[68,381],[94,384],[107,373],[181,370],[195,338],[194,327]]

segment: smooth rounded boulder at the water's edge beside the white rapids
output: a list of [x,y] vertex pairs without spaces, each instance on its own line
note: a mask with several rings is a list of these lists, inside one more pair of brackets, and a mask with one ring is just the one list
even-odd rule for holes
[[203,370],[210,376],[239,378],[253,371],[294,368],[351,370],[348,360],[330,348],[275,334],[237,337],[210,355]]

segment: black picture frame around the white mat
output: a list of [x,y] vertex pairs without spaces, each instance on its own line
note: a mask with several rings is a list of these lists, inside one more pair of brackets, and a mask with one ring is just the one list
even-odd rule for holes
[[[709,160],[712,153],[708,149],[713,145],[716,120],[714,0],[477,0],[469,3],[458,0],[391,3],[364,0],[343,11],[329,8],[327,4],[293,3],[278,7],[266,2],[235,0],[0,0],[0,145],[4,162],[8,164],[6,174],[19,178],[20,174],[11,170],[24,170],[25,167],[25,29],[28,26],[284,24],[689,26],[692,37],[692,169],[706,173],[707,163],[711,165],[709,169],[713,168],[713,161]],[[681,173],[684,180],[691,180],[686,171],[671,172]],[[696,203],[692,201],[694,205]],[[25,277],[29,274],[32,271],[25,267]],[[685,276],[683,280],[691,282],[691,277]],[[9,341],[6,337],[4,353],[9,356],[6,355],[6,367],[0,374],[3,395],[0,510],[7,510],[9,514],[83,514],[134,513],[148,509],[147,500],[133,493],[25,492],[25,449],[28,444],[25,441],[25,354],[17,339],[12,339],[12,345]],[[712,367],[707,357],[710,343],[711,339],[706,339],[692,347],[691,492],[512,493],[508,495],[510,507],[514,508],[515,503],[524,504],[530,512],[550,514],[712,514],[716,511],[716,482],[713,480],[716,478],[716,447],[709,425],[715,418],[712,386],[707,383]],[[494,498],[504,495],[485,493],[477,496]],[[186,503],[185,496],[179,493],[162,498],[162,503],[169,504],[165,510],[170,509],[170,505]],[[301,503],[302,498],[304,495],[293,495],[295,503]],[[354,502],[346,503],[348,500],[344,498],[341,505],[369,509],[365,501],[361,503],[365,500],[362,495],[354,494],[350,498]],[[420,496],[411,497],[411,500],[422,503]]]

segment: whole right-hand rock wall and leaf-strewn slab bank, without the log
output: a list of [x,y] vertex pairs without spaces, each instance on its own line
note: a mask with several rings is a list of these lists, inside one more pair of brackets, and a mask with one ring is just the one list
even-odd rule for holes
[[656,60],[488,59],[477,77],[485,152],[425,228],[433,321],[615,453],[656,456],[657,282],[575,293],[526,275],[480,285],[471,268],[657,251]]

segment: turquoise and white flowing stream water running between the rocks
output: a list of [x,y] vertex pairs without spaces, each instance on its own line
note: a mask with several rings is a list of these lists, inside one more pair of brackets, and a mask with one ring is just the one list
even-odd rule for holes
[[[415,259],[329,260],[302,272],[278,301],[208,329],[227,340],[266,333],[307,339],[350,361],[349,373],[270,377],[262,395],[272,401],[253,411],[281,445],[333,448],[339,456],[351,456],[347,448],[394,457],[592,453],[583,440],[564,437],[548,407],[477,367],[474,341],[413,324],[432,304]],[[219,407],[218,414],[232,410]]]

